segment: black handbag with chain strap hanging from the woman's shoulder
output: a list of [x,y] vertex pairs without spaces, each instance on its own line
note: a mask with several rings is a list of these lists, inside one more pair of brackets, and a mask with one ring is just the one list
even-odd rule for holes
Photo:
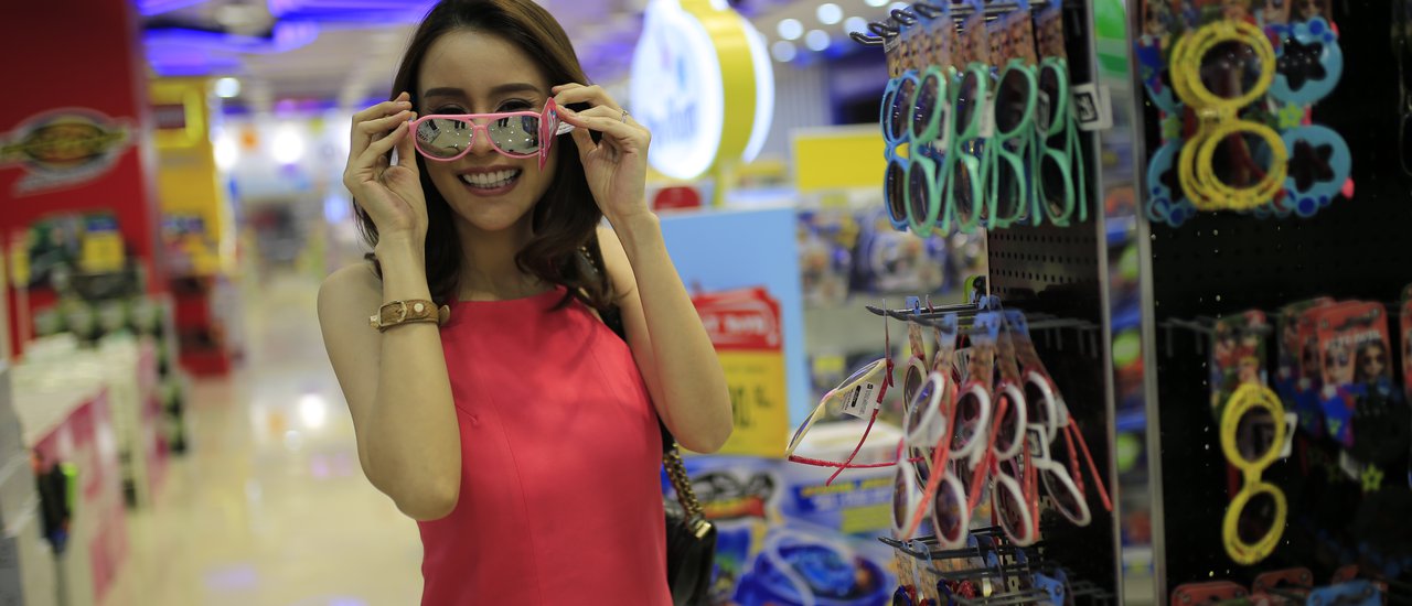
[[[583,247],[582,252],[594,272],[606,273],[602,269],[603,252],[597,237]],[[599,310],[599,316],[618,338],[627,341],[623,314],[617,307]],[[710,576],[716,567],[716,526],[702,513],[702,505],[692,490],[692,479],[682,465],[676,438],[661,417],[657,419],[657,426],[662,431],[662,466],[676,492],[675,502],[662,497],[662,509],[666,512],[666,586],[672,590],[675,606],[707,606]]]

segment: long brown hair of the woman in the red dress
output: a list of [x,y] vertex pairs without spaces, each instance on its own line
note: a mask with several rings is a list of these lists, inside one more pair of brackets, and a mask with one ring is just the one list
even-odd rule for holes
[[[417,73],[426,51],[442,35],[465,30],[497,35],[513,44],[539,63],[551,83],[587,83],[569,37],[559,23],[532,0],[442,0],[426,13],[412,34],[412,41],[393,79],[391,97],[395,99],[405,90],[411,94],[412,107],[417,107],[419,86]],[[596,228],[603,220],[603,213],[593,203],[573,140],[569,135],[559,135],[555,144],[561,149],[558,168],[549,189],[530,210],[534,235],[515,254],[515,264],[525,273],[565,286],[568,293],[559,306],[578,297],[604,310],[613,304],[609,276],[606,272],[593,271],[579,254],[583,247],[592,249],[597,245]],[[421,180],[426,197],[426,283],[432,297],[438,303],[446,303],[457,295],[462,271],[460,238],[456,234],[450,204],[426,171],[421,171]],[[376,247],[377,225],[356,204],[354,211],[363,240]],[[369,258],[371,259],[371,255]],[[376,259],[373,262],[377,264]],[[381,269],[377,271],[381,276]]]

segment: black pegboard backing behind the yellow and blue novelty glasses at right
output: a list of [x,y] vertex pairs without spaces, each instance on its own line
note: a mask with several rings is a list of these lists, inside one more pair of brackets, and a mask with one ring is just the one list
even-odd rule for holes
[[[1398,156],[1399,85],[1388,4],[1347,0],[1333,3],[1333,10],[1346,68],[1340,87],[1316,106],[1313,120],[1348,142],[1354,197],[1340,197],[1308,220],[1206,213],[1180,228],[1151,224],[1152,307],[1147,311],[1158,324],[1250,309],[1274,313],[1320,295],[1392,302],[1412,282],[1412,178],[1402,173]],[[1149,137],[1155,118],[1149,107]],[[1149,335],[1156,351],[1148,372],[1155,373],[1159,402],[1162,509],[1169,527],[1180,528],[1165,534],[1159,592],[1213,578],[1248,586],[1257,572],[1286,567],[1309,567],[1316,579],[1327,581],[1347,557],[1332,554],[1319,534],[1347,530],[1329,520],[1353,524],[1357,490],[1322,500],[1316,512],[1303,496],[1346,488],[1306,476],[1293,459],[1275,464],[1264,478],[1286,492],[1291,524],[1269,558],[1254,567],[1234,565],[1220,537],[1231,495],[1209,406],[1209,345],[1200,341],[1209,337],[1161,328]]]

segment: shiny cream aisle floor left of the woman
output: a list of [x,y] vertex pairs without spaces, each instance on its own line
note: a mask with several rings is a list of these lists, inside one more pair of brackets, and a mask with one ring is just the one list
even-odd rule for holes
[[417,603],[417,526],[359,468],[315,314],[318,283],[247,292],[247,361],[195,386],[192,452],[152,512],[109,606]]

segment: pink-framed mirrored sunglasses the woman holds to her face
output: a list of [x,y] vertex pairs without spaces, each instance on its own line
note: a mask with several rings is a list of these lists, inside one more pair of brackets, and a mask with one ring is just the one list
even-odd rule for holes
[[573,124],[559,121],[559,106],[549,99],[544,111],[505,111],[497,114],[432,114],[412,121],[417,151],[426,159],[450,162],[470,152],[480,132],[490,147],[510,158],[539,156],[539,168],[549,161],[549,147],[558,135],[573,131]]

